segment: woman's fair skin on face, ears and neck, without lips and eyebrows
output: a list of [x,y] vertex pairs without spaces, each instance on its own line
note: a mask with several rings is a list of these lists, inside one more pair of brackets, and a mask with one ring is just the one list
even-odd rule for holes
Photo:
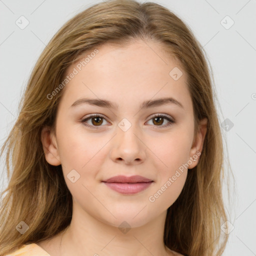
[[[158,198],[153,202],[148,198],[179,166],[201,152],[206,120],[201,121],[194,137],[186,74],[157,43],[134,41],[123,48],[104,44],[98,50],[64,87],[56,134],[47,128],[41,132],[47,162],[62,165],[73,212],[63,236],[61,233],[37,244],[51,256],[181,255],[164,246],[164,221],[167,208],[183,188],[187,171],[192,171],[189,169],[196,166],[199,157],[190,161],[188,169],[184,168]],[[67,74],[75,64],[69,66]],[[177,80],[169,75],[173,67],[183,72]],[[84,97],[106,99],[118,107],[86,103],[71,106]],[[165,103],[139,109],[143,101],[163,97],[172,97],[183,107]],[[80,122],[94,113],[103,115],[96,119],[100,124],[93,118],[86,121],[90,127]],[[158,113],[175,122],[162,117],[157,124],[153,117]],[[125,131],[118,126],[123,118],[131,124]],[[80,175],[74,183],[67,177],[72,169]],[[132,195],[121,194],[101,182],[120,174],[141,175],[154,182]],[[118,228],[123,221],[131,227],[125,233]]]

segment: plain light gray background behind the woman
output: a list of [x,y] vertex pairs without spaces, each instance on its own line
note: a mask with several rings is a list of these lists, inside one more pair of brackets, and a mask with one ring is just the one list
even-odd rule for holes
[[[0,145],[14,124],[21,91],[42,49],[66,20],[96,2],[0,0]],[[202,44],[213,68],[220,122],[228,118],[234,124],[222,128],[236,186],[229,188],[231,206],[226,202],[234,228],[223,255],[256,255],[256,0],[155,2],[181,17]],[[24,29],[15,24],[21,15],[29,21]],[[226,15],[234,21],[231,27]],[[7,185],[3,160],[1,189]]]

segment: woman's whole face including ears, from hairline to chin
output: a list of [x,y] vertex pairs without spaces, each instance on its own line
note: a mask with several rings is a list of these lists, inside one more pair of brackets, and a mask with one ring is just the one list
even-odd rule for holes
[[[76,74],[63,88],[55,134],[42,130],[46,160],[62,165],[73,209],[113,226],[141,226],[177,199],[202,149],[206,130],[194,136],[186,73],[155,42],[104,44],[84,67],[80,61],[66,72]],[[102,182],[116,175],[152,182],[119,183],[128,189],[121,192]]]

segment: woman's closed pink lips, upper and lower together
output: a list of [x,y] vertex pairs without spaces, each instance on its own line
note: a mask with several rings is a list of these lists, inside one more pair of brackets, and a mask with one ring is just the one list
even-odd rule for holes
[[107,187],[121,194],[135,194],[149,187],[150,184],[153,183],[153,180],[139,175],[130,177],[118,175],[103,180],[102,182],[104,182]]

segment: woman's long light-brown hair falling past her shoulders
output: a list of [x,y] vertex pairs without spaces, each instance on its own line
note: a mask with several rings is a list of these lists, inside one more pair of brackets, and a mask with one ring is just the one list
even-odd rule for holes
[[[71,221],[72,197],[61,166],[46,162],[40,141],[42,127],[54,127],[63,89],[52,92],[63,81],[67,67],[106,42],[120,47],[136,39],[161,42],[166,55],[180,61],[188,75],[195,129],[200,119],[208,119],[200,160],[188,171],[180,195],[167,210],[164,244],[189,256],[223,252],[228,238],[221,230],[227,220],[221,193],[223,144],[206,54],[189,27],[166,7],[108,0],[68,20],[32,70],[19,115],[1,149],[1,155],[7,149],[9,182],[1,193],[1,197],[5,195],[0,209],[0,255],[24,243],[50,238]],[[51,99],[47,97],[53,94]],[[20,221],[29,226],[23,234],[15,228]]]

